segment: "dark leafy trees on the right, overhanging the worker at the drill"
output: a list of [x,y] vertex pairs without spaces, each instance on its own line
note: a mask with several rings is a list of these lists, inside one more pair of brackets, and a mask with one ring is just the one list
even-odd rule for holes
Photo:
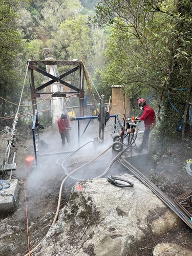
[[[131,98],[156,100],[153,106],[158,110],[164,137],[175,137],[181,118],[184,137],[188,120],[191,8],[187,0],[101,0],[91,19],[95,24],[112,27],[105,85],[109,88],[110,84],[121,84]],[[180,90],[184,88],[188,89]]]

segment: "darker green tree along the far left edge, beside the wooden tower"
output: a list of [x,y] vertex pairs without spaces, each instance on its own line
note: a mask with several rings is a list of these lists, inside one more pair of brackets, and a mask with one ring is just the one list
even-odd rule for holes
[[[8,100],[17,100],[17,82],[19,82],[18,55],[23,51],[23,42],[17,30],[18,15],[16,10],[24,1],[1,1],[0,5],[0,91]],[[26,1],[25,1],[26,2]],[[15,111],[0,99],[1,114]]]

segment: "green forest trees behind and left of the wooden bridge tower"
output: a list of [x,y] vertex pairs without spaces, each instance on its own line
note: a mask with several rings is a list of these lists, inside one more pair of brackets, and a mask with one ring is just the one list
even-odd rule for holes
[[[0,13],[0,61],[3,68],[0,96],[18,103],[27,60],[44,59],[47,49],[55,59],[72,60],[83,57],[93,75],[101,61],[103,62],[106,45],[103,29],[87,25],[87,13],[93,13],[96,2],[98,1],[84,1],[83,6],[79,0],[3,2]],[[44,77],[36,73],[34,75],[35,85],[38,86]],[[23,102],[30,98],[28,79],[26,83]],[[14,94],[10,93],[13,91]],[[28,101],[24,104],[28,104]],[[1,100],[0,108],[1,116],[5,116],[14,114],[17,106]]]

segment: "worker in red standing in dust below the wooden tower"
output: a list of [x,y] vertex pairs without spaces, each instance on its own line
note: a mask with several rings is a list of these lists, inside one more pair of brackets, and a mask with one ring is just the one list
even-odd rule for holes
[[62,140],[62,146],[65,145],[66,139],[67,142],[70,142],[69,130],[71,129],[67,114],[61,114],[61,117],[57,120],[59,127],[59,133]]

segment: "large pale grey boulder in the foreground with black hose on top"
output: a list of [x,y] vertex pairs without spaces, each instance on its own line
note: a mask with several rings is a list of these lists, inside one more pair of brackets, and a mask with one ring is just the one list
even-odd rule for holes
[[76,184],[34,255],[125,256],[136,252],[145,232],[151,230],[148,216],[158,219],[167,206],[134,176],[121,177],[134,186],[120,188],[106,179],[82,181],[81,187]]

